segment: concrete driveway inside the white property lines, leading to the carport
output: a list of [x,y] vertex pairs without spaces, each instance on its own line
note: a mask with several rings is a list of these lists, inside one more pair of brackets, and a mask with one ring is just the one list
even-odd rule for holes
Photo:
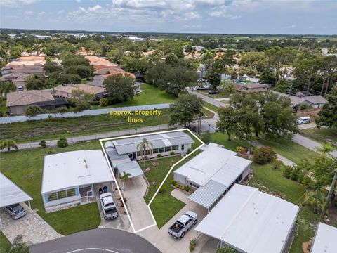
[[[121,184],[123,185],[123,183]],[[154,224],[149,208],[144,200],[147,184],[143,176],[136,176],[124,182],[124,197],[135,231]]]

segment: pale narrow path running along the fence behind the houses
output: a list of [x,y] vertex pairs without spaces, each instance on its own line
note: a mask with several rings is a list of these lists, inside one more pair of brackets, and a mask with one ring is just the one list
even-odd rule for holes
[[[92,141],[92,140],[99,140],[101,138],[110,138],[110,137],[116,137],[116,136],[127,136],[131,134],[140,134],[140,133],[147,133],[151,131],[164,131],[164,130],[169,130],[172,129],[172,126],[169,126],[168,124],[164,125],[159,125],[159,126],[144,126],[140,127],[137,130],[135,129],[125,129],[125,130],[120,130],[120,131],[111,131],[108,133],[103,133],[103,134],[91,134],[91,135],[86,135],[86,136],[77,136],[77,137],[71,137],[67,138],[67,141],[69,144],[72,143],[77,143],[80,141]],[[174,129],[176,129],[174,127]],[[58,140],[52,140],[52,141],[46,141],[47,146],[55,146],[57,145]],[[39,148],[39,142],[32,142],[32,143],[21,143],[18,144],[19,150],[22,149],[28,149],[28,148]]]

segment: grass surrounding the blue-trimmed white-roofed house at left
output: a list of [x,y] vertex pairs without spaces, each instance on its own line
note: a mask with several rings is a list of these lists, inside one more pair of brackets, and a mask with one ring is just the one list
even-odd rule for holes
[[100,214],[97,203],[80,205],[58,212],[46,213],[41,197],[42,171],[44,156],[48,150],[62,153],[73,150],[100,149],[98,141],[76,143],[67,148],[34,148],[19,150],[11,153],[0,153],[1,172],[8,176],[22,190],[33,197],[32,208],[37,208],[38,214],[49,223],[55,231],[62,235],[69,235],[79,231],[97,228],[100,224]]

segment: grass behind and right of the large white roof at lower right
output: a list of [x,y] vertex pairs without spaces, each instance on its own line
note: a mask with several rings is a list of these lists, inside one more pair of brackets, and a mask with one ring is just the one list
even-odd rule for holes
[[281,169],[272,169],[270,164],[258,165],[253,163],[253,177],[249,181],[249,186],[257,187],[267,193],[272,193],[282,197],[284,200],[300,206],[298,214],[298,234],[293,240],[291,253],[303,253],[301,246],[315,235],[315,226],[319,220],[319,215],[312,212],[312,208],[301,206],[305,194],[305,187],[284,178]]

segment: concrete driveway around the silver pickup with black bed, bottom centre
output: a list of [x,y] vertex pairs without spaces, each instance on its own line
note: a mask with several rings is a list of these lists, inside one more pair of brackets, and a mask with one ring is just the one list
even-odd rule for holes
[[[194,231],[194,227],[192,227],[192,229],[185,234],[184,238],[175,239],[171,235],[169,235],[169,227],[174,222],[176,222],[182,214],[189,210],[189,204],[187,199],[188,195],[181,192],[180,190],[173,190],[171,195],[173,195],[173,197],[176,197],[178,200],[185,202],[185,207],[183,207],[183,209],[181,209],[175,216],[173,216],[173,218],[162,228],[158,229],[157,226],[154,226],[152,228],[146,229],[145,231],[140,231],[138,235],[146,238],[149,242],[158,247],[163,253],[188,253],[190,252],[190,240],[197,238],[197,231]],[[207,212],[204,207],[201,207],[194,202],[190,203],[190,210],[198,214],[199,222],[201,221],[201,219],[204,219],[204,216],[206,216]],[[208,236],[202,235],[194,252],[206,253],[206,251],[203,251],[201,249],[204,247],[206,242],[209,241],[209,239],[210,238]],[[210,252],[215,252],[215,249]]]

